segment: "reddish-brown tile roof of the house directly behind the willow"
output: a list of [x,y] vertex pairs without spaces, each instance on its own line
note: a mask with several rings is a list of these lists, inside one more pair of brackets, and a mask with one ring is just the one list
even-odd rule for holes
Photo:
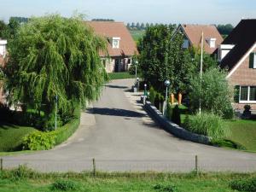
[[[112,44],[108,43],[108,55],[135,55],[137,53],[137,46],[123,22],[86,21],[86,23],[94,29],[96,34],[104,38],[120,38],[119,49],[113,49]],[[106,55],[101,53],[101,56]]]

